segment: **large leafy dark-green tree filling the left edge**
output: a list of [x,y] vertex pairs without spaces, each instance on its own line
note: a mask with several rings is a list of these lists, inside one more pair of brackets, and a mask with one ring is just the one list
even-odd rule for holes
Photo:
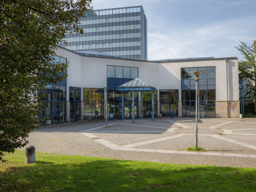
[[51,56],[66,33],[83,32],[79,17],[90,2],[0,0],[0,160],[38,127],[37,91],[67,75]]

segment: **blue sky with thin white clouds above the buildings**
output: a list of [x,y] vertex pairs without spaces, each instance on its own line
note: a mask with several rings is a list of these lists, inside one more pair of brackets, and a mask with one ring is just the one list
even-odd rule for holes
[[92,0],[94,10],[142,5],[148,60],[238,57],[256,36],[256,0]]

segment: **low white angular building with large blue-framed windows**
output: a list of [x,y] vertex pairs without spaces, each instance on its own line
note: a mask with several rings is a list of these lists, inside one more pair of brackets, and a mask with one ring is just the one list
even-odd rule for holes
[[[139,78],[156,88],[154,115],[195,116],[196,86],[190,71],[204,71],[199,75],[198,89],[201,117],[239,117],[238,59],[200,58],[174,61],[148,61],[126,58],[80,55],[58,47],[56,61],[69,61],[66,82],[49,87],[45,111],[39,118],[46,124],[65,122],[70,113],[84,118],[103,119],[105,102],[114,118],[122,118],[121,92],[116,87]],[[227,62],[226,62],[227,61]],[[228,71],[227,71],[228,70]],[[105,94],[103,87],[108,88]],[[48,88],[47,88],[48,89]],[[143,92],[143,116],[152,116],[152,94]],[[227,99],[228,98],[228,99]],[[125,94],[124,119],[131,118],[130,92]],[[135,95],[135,118],[140,117],[140,92]],[[44,124],[44,123],[43,123]]]

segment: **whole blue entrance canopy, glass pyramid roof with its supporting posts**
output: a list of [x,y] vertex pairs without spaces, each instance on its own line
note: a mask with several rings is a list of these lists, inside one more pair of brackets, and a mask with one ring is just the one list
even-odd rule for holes
[[[154,121],[154,92],[156,88],[136,78],[132,81],[124,83],[117,87],[117,91],[132,91],[133,92],[133,122],[134,122],[134,91],[152,91],[152,121]],[[123,105],[123,93],[122,93],[122,120],[124,120],[124,105]],[[142,94],[140,94],[140,119],[142,119]]]

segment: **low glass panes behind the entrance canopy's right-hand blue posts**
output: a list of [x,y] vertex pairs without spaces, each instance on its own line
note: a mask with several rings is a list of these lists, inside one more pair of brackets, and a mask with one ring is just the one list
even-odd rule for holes
[[[157,91],[154,92],[154,116],[157,116]],[[152,91],[142,92],[142,114],[144,117],[152,117]]]

